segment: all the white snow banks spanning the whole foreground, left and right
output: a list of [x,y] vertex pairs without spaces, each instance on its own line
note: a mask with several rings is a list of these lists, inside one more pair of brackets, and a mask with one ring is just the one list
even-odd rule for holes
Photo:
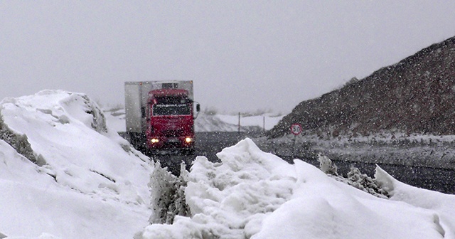
[[[0,238],[455,238],[455,196],[379,168],[390,198],[245,139],[166,184],[84,94],[45,90],[0,110]],[[178,203],[161,210],[160,197]],[[171,209],[172,224],[149,225]]]

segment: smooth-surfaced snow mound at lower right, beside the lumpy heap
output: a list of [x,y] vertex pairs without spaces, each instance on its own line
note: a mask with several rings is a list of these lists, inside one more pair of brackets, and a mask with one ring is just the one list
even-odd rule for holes
[[335,181],[302,161],[294,198],[252,238],[441,238],[434,213]]

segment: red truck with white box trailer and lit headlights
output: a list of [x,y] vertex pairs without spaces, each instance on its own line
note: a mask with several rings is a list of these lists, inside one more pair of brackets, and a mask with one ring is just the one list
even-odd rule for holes
[[129,142],[145,154],[194,154],[192,81],[125,83],[125,119]]

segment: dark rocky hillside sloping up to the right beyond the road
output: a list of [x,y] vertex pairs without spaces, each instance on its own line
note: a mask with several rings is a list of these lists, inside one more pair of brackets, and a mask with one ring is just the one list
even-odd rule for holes
[[390,130],[455,134],[455,37],[301,102],[269,136],[289,134],[295,122],[332,137]]

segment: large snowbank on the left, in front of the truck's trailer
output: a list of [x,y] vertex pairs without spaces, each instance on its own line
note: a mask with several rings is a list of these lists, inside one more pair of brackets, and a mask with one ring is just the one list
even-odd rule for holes
[[0,233],[131,238],[144,226],[149,159],[109,130],[87,95],[44,90],[0,109],[1,129],[25,139],[38,159],[0,140]]

